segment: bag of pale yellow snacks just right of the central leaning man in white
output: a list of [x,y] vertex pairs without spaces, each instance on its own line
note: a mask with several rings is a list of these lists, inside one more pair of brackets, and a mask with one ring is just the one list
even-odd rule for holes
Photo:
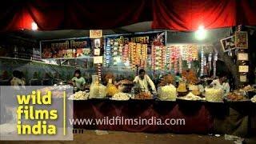
[[158,96],[161,100],[176,101],[177,90],[173,85],[158,88]]

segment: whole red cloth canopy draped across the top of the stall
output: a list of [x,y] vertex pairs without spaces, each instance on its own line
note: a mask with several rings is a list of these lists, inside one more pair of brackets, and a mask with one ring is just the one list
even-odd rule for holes
[[113,29],[153,21],[154,29],[256,25],[255,0],[14,1],[0,6],[0,30]]

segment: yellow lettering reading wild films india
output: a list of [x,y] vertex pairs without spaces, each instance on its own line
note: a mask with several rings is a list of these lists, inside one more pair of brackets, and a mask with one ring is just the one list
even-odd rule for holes
[[[17,95],[17,132],[18,134],[56,134],[56,126],[48,124],[47,120],[56,120],[58,118],[58,110],[37,110],[34,105],[51,105],[52,93],[47,91],[46,95],[42,95],[40,90],[32,91],[32,94]],[[24,120],[34,120],[36,124],[30,125],[22,123]]]

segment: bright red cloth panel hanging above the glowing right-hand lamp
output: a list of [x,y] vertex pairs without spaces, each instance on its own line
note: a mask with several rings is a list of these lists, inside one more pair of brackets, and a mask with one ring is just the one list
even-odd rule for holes
[[235,26],[235,0],[153,1],[154,29],[198,30]]

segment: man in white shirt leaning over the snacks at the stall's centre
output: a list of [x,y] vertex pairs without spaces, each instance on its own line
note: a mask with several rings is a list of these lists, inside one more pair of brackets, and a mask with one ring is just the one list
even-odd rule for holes
[[150,79],[150,77],[146,74],[146,71],[141,69],[138,71],[138,76],[134,78],[134,83],[138,84],[140,86],[141,90],[144,90],[145,92],[149,92],[149,85],[153,92],[153,94],[156,94],[156,89],[154,86],[154,82]]

